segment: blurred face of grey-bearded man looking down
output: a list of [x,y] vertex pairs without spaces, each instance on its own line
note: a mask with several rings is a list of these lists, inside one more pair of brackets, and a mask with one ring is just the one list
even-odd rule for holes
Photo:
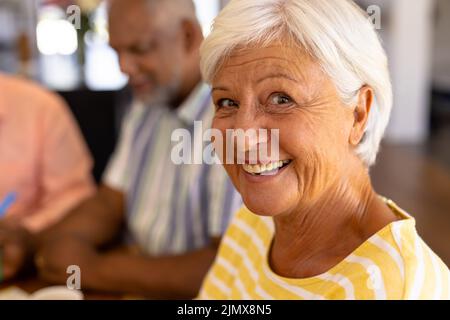
[[114,1],[109,16],[110,45],[130,77],[135,96],[167,103],[177,94],[183,63],[180,33],[156,23],[145,0]]

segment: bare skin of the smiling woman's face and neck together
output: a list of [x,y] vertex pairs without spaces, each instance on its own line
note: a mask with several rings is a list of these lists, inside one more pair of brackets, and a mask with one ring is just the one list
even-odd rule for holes
[[[292,160],[260,184],[245,179],[240,165],[225,166],[247,208],[273,217],[269,263],[275,272],[325,272],[395,219],[354,152],[356,106],[341,101],[333,81],[304,51],[282,45],[238,51],[219,69],[213,87],[216,104],[235,102],[225,111],[217,108],[213,127],[278,129],[280,156]],[[267,97],[274,93],[292,103],[271,105]]]

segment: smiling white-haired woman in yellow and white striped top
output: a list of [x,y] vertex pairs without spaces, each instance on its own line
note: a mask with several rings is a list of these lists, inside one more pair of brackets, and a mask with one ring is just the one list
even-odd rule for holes
[[449,270],[414,219],[371,185],[392,91],[362,10],[348,0],[231,0],[201,56],[214,128],[279,129],[279,158],[224,164],[246,206],[200,299],[450,297]]

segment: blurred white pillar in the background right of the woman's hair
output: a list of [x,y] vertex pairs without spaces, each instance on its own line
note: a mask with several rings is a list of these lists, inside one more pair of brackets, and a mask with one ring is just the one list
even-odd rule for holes
[[433,0],[391,1],[389,15],[394,108],[386,140],[420,143],[428,137]]

